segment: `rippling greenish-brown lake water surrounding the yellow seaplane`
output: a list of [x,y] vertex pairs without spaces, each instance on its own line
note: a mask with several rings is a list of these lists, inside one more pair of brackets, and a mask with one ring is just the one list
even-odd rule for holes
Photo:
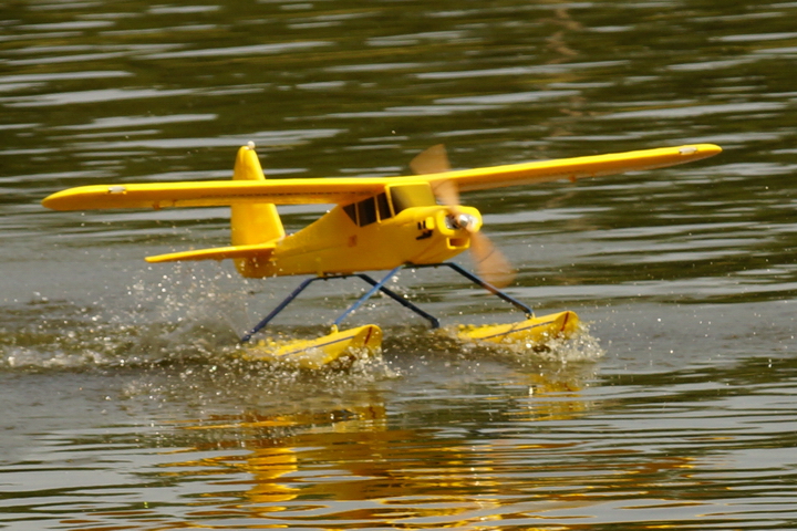
[[[0,528],[797,528],[797,2],[0,3]],[[225,208],[53,212],[71,186],[394,176],[687,143],[718,157],[469,194],[508,291],[589,324],[474,348],[375,301],[382,362],[236,339],[298,279],[145,256]],[[323,208],[282,209],[289,230]],[[462,263],[470,267],[466,257]],[[327,283],[324,283],[327,284]],[[460,279],[397,289],[513,319]],[[360,287],[314,288],[312,335]]]

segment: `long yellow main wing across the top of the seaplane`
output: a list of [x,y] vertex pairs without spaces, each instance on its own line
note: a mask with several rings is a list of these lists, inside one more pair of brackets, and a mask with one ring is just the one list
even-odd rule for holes
[[576,180],[624,171],[663,168],[717,155],[713,144],[644,149],[610,155],[542,160],[407,177],[331,177],[267,180],[210,180],[93,185],[55,192],[42,201],[53,210],[214,207],[251,202],[342,204],[365,199],[397,183],[453,181],[460,191]]

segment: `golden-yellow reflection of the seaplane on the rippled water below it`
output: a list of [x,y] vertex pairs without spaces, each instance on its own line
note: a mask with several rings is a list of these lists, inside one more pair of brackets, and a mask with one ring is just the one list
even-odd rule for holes
[[[229,490],[203,497],[197,516],[289,529],[517,525],[588,511],[605,501],[605,489],[656,492],[656,483],[689,481],[690,457],[594,447],[576,433],[567,440],[535,436],[550,421],[573,423],[587,413],[580,393],[587,377],[544,369],[513,383],[534,394],[475,400],[467,409],[437,404],[390,416],[381,393],[372,392],[323,410],[197,420],[186,430],[201,458],[165,471],[218,473],[213,485]],[[246,452],[208,456],[226,444]],[[570,529],[569,521],[557,523]]]

